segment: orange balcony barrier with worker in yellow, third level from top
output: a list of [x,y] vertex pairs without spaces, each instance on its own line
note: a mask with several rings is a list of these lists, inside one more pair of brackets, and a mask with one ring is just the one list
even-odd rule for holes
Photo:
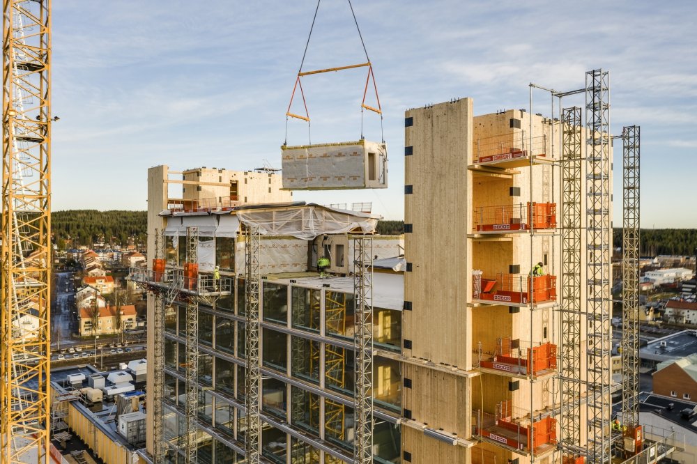
[[[495,302],[530,304],[556,301],[557,277],[523,274],[496,274],[496,279],[473,276],[473,299]],[[530,290],[532,289],[532,290]]]

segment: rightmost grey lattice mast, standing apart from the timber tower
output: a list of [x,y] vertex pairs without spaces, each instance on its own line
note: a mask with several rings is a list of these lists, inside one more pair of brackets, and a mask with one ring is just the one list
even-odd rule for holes
[[639,148],[638,125],[622,128],[622,422],[639,424]]

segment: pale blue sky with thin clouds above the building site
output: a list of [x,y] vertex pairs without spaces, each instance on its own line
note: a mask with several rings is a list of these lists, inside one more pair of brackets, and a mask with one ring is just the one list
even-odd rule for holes
[[[146,169],[280,167],[316,2],[53,2],[54,210],[144,210]],[[295,194],[404,215],[404,110],[457,97],[476,114],[527,108],[528,84],[611,72],[611,126],[641,125],[641,226],[697,227],[694,1],[353,0],[385,110],[387,190]],[[323,0],[305,69],[365,58],[346,0]],[[360,137],[365,70],[307,77],[312,141]],[[535,94],[549,114],[549,96]],[[571,98],[569,104],[581,104]],[[565,106],[567,102],[565,101]],[[300,108],[295,107],[297,111]],[[365,116],[365,137],[380,138]],[[289,144],[307,126],[289,123]],[[615,200],[621,150],[615,150]],[[621,224],[621,201],[615,201]]]

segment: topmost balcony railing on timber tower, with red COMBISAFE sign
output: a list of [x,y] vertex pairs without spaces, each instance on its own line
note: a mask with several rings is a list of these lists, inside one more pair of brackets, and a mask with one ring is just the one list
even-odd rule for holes
[[525,131],[509,132],[477,139],[473,162],[496,163],[526,158],[530,155],[546,157],[548,140],[546,135],[527,137]]

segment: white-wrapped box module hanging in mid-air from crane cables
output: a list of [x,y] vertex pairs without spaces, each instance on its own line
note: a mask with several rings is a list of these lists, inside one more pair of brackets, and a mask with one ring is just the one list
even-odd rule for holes
[[[387,187],[387,148],[371,141],[282,146],[283,187],[326,190]],[[372,153],[374,156],[368,155]]]

